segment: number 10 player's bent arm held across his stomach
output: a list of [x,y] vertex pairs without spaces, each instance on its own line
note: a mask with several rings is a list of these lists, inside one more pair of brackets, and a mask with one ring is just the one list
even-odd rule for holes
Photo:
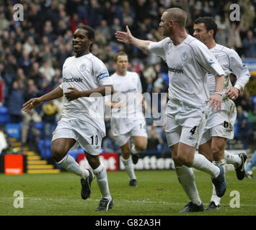
[[98,88],[94,88],[90,91],[79,91],[77,88],[68,88],[69,92],[64,93],[66,98],[69,101],[76,100],[77,98],[81,97],[89,97],[89,96],[107,96],[110,95],[114,92],[114,87],[112,85],[105,85],[105,86],[100,86]]

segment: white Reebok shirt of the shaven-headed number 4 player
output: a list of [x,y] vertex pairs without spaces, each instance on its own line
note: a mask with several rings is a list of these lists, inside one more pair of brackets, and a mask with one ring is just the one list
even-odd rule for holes
[[168,65],[169,99],[203,106],[209,97],[207,73],[224,75],[208,47],[190,35],[180,45],[174,45],[169,37],[150,42],[149,51],[162,57]]

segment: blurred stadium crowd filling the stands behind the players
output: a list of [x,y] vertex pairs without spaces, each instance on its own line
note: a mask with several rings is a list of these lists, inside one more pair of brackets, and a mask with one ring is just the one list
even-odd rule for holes
[[[241,9],[241,21],[230,22],[229,6],[237,3]],[[24,20],[13,18],[14,4],[22,4]],[[95,30],[92,53],[114,73],[113,63],[117,52],[125,51],[130,58],[129,69],[141,76],[143,92],[166,93],[167,67],[156,55],[138,51],[132,45],[123,45],[115,39],[117,30],[125,30],[128,24],[133,35],[142,40],[162,40],[159,20],[164,9],[180,7],[187,12],[187,30],[193,34],[193,22],[202,16],[213,17],[219,26],[216,42],[231,47],[244,57],[256,57],[256,1],[198,1],[198,0],[20,0],[0,3],[0,81],[4,84],[4,96],[0,106],[6,106],[10,122],[22,121],[22,142],[27,142],[30,121],[43,121],[45,137],[50,138],[62,110],[61,100],[48,103],[34,113],[22,112],[22,104],[30,98],[48,93],[62,80],[62,65],[74,55],[72,33],[83,23]],[[234,82],[235,77],[231,80]],[[244,149],[256,142],[256,97],[245,89],[235,101],[237,104],[237,132]],[[146,119],[149,130],[147,150],[169,152],[164,126],[152,125]],[[118,151],[112,139],[110,121],[105,120],[107,137],[103,148]],[[37,129],[33,133],[39,137]],[[152,144],[154,143],[154,144]]]

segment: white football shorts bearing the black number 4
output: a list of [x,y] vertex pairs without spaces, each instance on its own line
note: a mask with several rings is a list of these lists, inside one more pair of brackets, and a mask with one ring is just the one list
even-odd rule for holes
[[193,106],[175,99],[168,101],[165,131],[169,147],[178,142],[198,147],[205,126],[205,106]]

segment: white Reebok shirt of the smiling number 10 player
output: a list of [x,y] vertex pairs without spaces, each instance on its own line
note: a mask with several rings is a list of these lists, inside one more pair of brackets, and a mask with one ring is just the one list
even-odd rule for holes
[[[68,57],[63,63],[63,83],[60,85],[63,93],[68,92],[69,87],[88,91],[105,85],[112,85],[112,79],[102,60],[92,53],[81,57]],[[97,128],[102,137],[105,136],[105,98],[103,96],[81,97],[74,101],[68,101],[64,96],[63,102],[63,116],[87,121]]]

